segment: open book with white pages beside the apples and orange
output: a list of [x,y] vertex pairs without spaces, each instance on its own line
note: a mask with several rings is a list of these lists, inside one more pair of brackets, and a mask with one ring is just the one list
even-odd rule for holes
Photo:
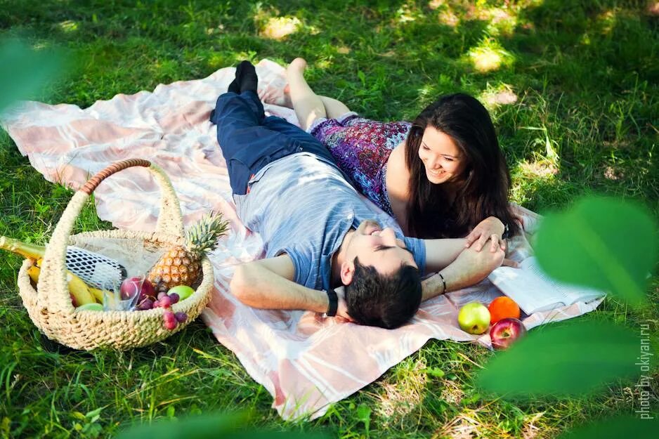
[[527,314],[605,296],[603,291],[553,280],[540,269],[534,256],[524,259],[519,268],[499,267],[488,279]]

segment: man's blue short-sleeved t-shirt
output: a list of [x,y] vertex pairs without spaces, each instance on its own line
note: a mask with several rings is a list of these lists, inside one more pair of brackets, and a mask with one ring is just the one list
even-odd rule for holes
[[294,282],[305,287],[330,289],[332,255],[348,230],[368,219],[393,228],[424,273],[424,242],[404,237],[391,216],[317,156],[301,152],[268,164],[250,181],[249,193],[234,198],[244,225],[261,235],[266,257],[288,254],[295,266]]

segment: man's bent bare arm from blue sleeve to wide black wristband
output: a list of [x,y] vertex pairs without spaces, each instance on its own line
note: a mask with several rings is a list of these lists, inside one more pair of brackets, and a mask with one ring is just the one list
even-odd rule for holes
[[295,268],[287,254],[237,266],[230,289],[245,305],[262,309],[310,310],[325,313],[325,291],[293,282]]

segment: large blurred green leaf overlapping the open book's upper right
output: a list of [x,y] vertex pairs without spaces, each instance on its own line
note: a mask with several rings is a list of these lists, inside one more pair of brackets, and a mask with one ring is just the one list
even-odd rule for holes
[[562,282],[611,292],[638,305],[657,260],[657,225],[646,209],[621,199],[587,197],[544,218],[536,256]]

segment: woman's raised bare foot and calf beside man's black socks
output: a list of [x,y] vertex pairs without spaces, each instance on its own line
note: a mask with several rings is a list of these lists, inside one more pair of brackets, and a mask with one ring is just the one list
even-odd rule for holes
[[288,80],[293,109],[300,122],[300,126],[304,130],[315,119],[327,117],[325,105],[322,104],[320,96],[313,93],[313,90],[304,79],[305,69],[306,61],[302,58],[295,58],[286,69],[286,79]]

